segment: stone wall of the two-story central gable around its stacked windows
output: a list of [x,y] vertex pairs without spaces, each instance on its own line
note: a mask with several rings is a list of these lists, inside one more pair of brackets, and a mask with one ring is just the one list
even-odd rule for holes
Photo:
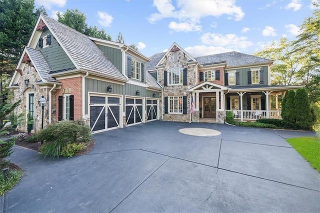
[[[177,96],[177,95],[187,96],[187,103],[186,103],[187,110],[186,110],[186,114],[171,114],[171,113],[165,114],[164,111],[162,111],[162,107],[160,107],[159,116],[161,117],[161,114],[162,114],[163,120],[187,122],[187,121],[190,121],[190,93],[188,92],[188,88],[194,86],[194,83],[196,82],[195,70],[194,70],[196,63],[187,62],[189,59],[180,50],[175,52],[177,53],[177,58],[178,58],[177,61],[173,61],[173,53],[174,52],[169,52],[169,54],[166,57],[166,60],[164,60],[164,62],[162,63],[163,67],[158,69],[158,81],[163,86],[163,97]],[[187,85],[164,86],[164,70],[168,71],[172,67],[187,68]],[[161,97],[160,105],[162,104],[161,102],[162,99],[164,101],[164,98]]]

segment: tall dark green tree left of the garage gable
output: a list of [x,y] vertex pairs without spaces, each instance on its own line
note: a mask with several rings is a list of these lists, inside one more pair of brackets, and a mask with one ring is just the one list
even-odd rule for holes
[[0,0],[0,95],[32,33],[33,9],[33,0]]

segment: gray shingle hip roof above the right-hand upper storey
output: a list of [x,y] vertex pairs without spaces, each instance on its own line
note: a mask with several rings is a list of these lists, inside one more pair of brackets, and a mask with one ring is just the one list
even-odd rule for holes
[[221,62],[226,61],[227,66],[271,62],[271,60],[266,58],[257,57],[254,55],[245,54],[245,53],[236,52],[236,51],[199,56],[199,57],[195,57],[195,59],[201,65],[219,62],[219,61]]

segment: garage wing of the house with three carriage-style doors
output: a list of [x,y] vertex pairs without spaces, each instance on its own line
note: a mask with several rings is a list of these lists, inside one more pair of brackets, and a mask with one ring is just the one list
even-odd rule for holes
[[9,84],[33,131],[63,119],[84,119],[93,132],[158,119],[161,86],[146,72],[149,58],[113,41],[88,37],[40,15]]

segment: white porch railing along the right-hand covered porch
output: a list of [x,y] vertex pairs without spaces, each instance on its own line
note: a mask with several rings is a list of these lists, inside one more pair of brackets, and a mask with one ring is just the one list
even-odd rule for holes
[[[233,113],[234,119],[239,120],[256,120],[261,118],[282,119],[281,110],[235,110],[227,109]],[[242,115],[242,116],[241,116]]]

